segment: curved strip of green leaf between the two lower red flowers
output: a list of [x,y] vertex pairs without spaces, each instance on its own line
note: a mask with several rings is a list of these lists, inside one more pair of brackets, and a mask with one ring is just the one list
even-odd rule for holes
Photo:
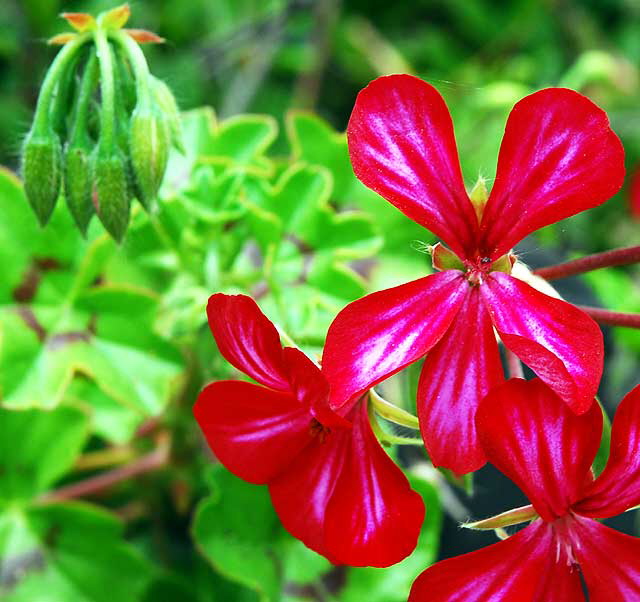
[[442,510],[434,485],[417,476],[410,477],[411,486],[424,498],[427,513],[418,545],[408,558],[386,568],[350,569],[347,583],[340,593],[340,602],[404,602],[411,584],[438,554]]

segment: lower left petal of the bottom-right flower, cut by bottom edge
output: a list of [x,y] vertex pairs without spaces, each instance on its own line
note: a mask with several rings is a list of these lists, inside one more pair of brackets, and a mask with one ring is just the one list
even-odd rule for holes
[[[470,554],[429,567],[414,582],[408,602],[577,602],[578,578],[569,568],[554,573],[571,597],[549,597],[547,570],[555,559],[551,529],[536,521],[515,535]],[[567,583],[571,582],[573,583]]]

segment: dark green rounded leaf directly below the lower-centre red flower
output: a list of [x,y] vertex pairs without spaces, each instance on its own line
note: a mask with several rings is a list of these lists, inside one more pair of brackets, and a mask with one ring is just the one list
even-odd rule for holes
[[263,602],[277,602],[281,527],[266,487],[245,483],[220,467],[215,482],[217,491],[196,510],[196,545],[220,574],[255,590]]

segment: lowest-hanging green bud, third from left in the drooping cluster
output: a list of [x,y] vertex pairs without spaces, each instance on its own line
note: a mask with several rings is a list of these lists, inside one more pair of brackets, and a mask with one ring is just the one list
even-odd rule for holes
[[94,167],[93,203],[107,232],[120,242],[129,224],[127,166],[117,149],[105,152],[98,148]]

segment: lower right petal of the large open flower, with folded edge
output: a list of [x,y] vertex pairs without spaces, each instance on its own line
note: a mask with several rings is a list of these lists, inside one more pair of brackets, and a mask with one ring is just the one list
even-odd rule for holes
[[598,325],[570,303],[508,274],[491,273],[480,289],[505,346],[574,412],[587,410],[602,376],[604,348]]

